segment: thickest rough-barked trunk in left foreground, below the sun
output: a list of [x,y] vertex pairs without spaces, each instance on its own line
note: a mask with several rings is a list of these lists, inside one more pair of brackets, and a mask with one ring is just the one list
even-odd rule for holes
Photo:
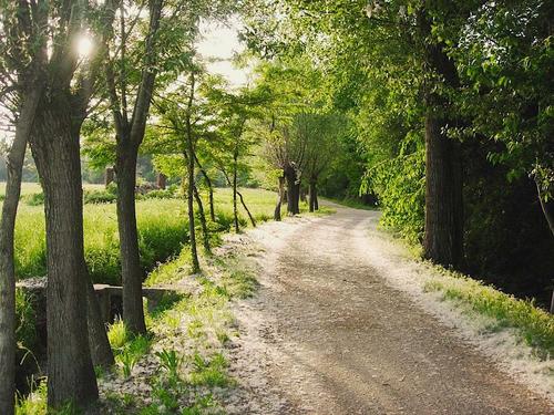
[[83,191],[79,141],[66,98],[42,103],[31,149],[44,190],[47,217],[48,404],[98,398],[86,323],[83,270]]

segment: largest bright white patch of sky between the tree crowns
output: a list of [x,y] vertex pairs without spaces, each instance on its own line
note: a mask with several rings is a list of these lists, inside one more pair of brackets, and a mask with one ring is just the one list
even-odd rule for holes
[[236,69],[232,59],[234,53],[244,51],[245,46],[238,41],[240,23],[232,19],[227,25],[214,22],[201,24],[203,40],[198,44],[198,52],[206,59],[216,59],[207,68],[211,73],[225,76],[233,86],[242,86],[248,81],[247,70]]

